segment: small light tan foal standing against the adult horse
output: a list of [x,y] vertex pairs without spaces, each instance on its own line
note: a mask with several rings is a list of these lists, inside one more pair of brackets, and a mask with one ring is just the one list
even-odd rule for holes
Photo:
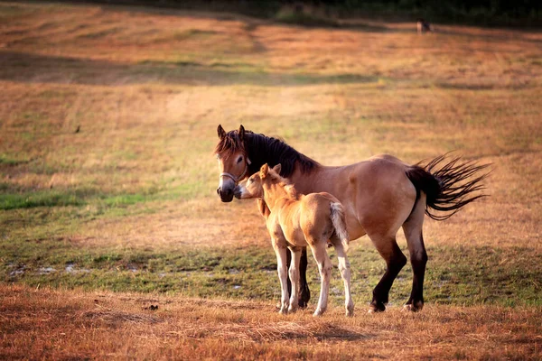
[[[297,194],[294,185],[287,184],[280,173],[280,164],[270,169],[264,164],[260,171],[239,184],[235,190],[238,199],[264,199],[270,213],[266,227],[276,253],[277,271],[281,286],[280,313],[293,312],[298,306],[299,260],[302,247],[309,245],[318,263],[322,279],[320,299],[313,316],[321,316],[327,308],[332,274],[332,261],[327,254],[327,241],[337,251],[339,270],[344,282],[346,315],[352,316],[354,302],[350,296],[350,263],[346,257],[349,236],[346,230],[344,208],[330,193]],[[289,275],[292,295],[288,300],[286,286],[286,248],[292,253]]]

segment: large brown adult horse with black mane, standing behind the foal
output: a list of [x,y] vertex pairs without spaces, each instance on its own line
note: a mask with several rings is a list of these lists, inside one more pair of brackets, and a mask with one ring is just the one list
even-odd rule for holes
[[[282,164],[280,175],[295,184],[302,194],[326,191],[339,199],[346,210],[350,239],[368,235],[387,264],[386,273],[373,290],[369,311],[386,309],[389,290],[397,274],[406,264],[396,241],[403,227],[413,268],[413,282],[406,310],[422,310],[424,306],[424,277],[427,254],[422,225],[424,214],[430,218],[450,218],[460,208],[483,195],[482,173],[488,164],[461,162],[454,158],[446,162],[439,156],[424,167],[409,165],[391,155],[378,155],[366,161],[341,167],[323,166],[294,150],[288,144],[264,134],[245,131],[226,133],[218,127],[220,142],[215,148],[219,160],[220,183],[217,193],[223,202],[233,199],[239,180],[245,179],[268,163]],[[265,202],[258,208],[266,214]],[[435,210],[440,213],[435,213]],[[306,252],[300,265],[300,303],[310,297],[306,285]]]

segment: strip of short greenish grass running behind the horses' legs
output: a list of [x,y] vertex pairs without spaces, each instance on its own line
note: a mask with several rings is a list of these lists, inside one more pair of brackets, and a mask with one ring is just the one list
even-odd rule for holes
[[[337,262],[330,250],[333,264]],[[406,252],[406,250],[405,250]],[[270,246],[210,249],[143,250],[79,248],[65,238],[0,242],[0,279],[31,286],[108,289],[118,292],[169,292],[196,297],[270,300],[278,297],[276,257]],[[429,247],[425,301],[438,304],[501,306],[542,305],[542,255],[527,248],[487,246]],[[350,252],[352,292],[360,307],[370,301],[372,288],[385,264],[370,245]],[[309,261],[313,302],[320,283]],[[68,268],[67,268],[68,267]],[[335,267],[336,268],[336,267]],[[50,273],[44,270],[54,271]],[[70,271],[69,271],[70,270]],[[390,303],[404,303],[411,288],[410,266],[399,273]],[[343,287],[333,271],[331,297],[341,304]]]

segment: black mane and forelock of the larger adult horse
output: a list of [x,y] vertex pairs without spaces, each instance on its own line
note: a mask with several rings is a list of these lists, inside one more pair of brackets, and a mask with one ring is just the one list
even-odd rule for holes
[[259,171],[265,163],[270,167],[280,163],[280,175],[288,178],[294,173],[296,164],[304,173],[311,172],[320,165],[319,162],[297,152],[281,139],[256,134],[249,130],[245,131],[243,141],[239,138],[237,130],[229,131],[220,139],[214,153],[235,153],[240,150],[244,151],[251,162],[248,166],[248,174]]

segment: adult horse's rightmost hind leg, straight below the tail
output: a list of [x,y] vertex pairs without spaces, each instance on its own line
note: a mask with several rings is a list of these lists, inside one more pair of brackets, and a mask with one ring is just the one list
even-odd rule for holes
[[406,301],[404,310],[418,311],[424,308],[424,277],[425,264],[427,264],[427,253],[425,252],[424,236],[422,227],[424,224],[425,197],[418,199],[416,207],[403,224],[405,231],[406,245],[410,253],[412,264],[412,291],[410,298]]

